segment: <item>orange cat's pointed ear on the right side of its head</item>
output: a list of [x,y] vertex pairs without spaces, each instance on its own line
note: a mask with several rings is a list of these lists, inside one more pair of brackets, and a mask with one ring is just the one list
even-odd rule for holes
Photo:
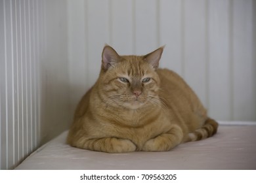
[[161,54],[163,53],[163,48],[164,46],[161,46],[160,48],[154,50],[154,52],[151,52],[150,54],[144,56],[145,61],[150,63],[150,65],[152,65],[155,70],[158,69]]

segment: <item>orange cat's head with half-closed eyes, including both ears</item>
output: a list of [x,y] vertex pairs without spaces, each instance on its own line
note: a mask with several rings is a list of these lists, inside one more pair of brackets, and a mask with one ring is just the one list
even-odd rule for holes
[[156,70],[162,52],[163,47],[145,56],[119,56],[105,46],[99,82],[106,105],[129,109],[158,105],[160,78]]

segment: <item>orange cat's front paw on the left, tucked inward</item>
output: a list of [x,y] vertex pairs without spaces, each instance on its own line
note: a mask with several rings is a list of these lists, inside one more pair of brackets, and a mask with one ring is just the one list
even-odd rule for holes
[[116,139],[112,138],[112,144],[108,149],[108,152],[134,152],[136,150],[135,144],[128,139]]

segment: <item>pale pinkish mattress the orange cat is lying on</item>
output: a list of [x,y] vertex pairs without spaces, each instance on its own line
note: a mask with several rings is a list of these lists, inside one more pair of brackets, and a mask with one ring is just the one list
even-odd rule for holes
[[94,152],[69,146],[67,135],[41,146],[16,169],[256,169],[256,125],[220,125],[213,137],[169,152]]

